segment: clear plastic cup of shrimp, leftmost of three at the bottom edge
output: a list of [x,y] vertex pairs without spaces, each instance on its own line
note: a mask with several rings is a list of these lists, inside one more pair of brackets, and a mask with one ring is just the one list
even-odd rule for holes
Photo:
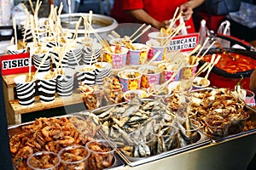
[[60,156],[50,151],[36,152],[26,161],[27,166],[34,170],[57,170],[60,163]]

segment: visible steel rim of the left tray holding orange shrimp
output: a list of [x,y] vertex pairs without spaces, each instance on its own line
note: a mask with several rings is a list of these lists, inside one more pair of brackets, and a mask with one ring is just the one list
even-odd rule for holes
[[[64,115],[64,116],[54,116],[52,118],[61,118],[61,117],[71,118],[73,116],[79,118],[80,120],[85,120],[85,117],[82,114],[79,114],[79,113],[73,113],[73,114],[68,114],[68,115]],[[9,137],[15,135],[16,133],[22,132],[22,127],[23,126],[32,124],[33,122],[34,121],[32,121],[32,122],[24,122],[24,123],[21,123],[21,124],[9,126],[8,127]],[[98,136],[99,135],[97,135],[97,137]],[[121,161],[121,159],[119,158],[118,155],[115,154],[113,165],[111,167],[108,167],[107,169],[109,169],[109,170],[116,169],[116,168],[119,169],[121,167],[125,167],[125,163],[123,161]]]

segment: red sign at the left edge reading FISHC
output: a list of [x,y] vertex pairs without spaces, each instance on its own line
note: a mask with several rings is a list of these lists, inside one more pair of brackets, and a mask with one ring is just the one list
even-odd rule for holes
[[[26,73],[29,71],[29,53],[0,56],[2,75]],[[31,71],[36,71],[32,65]]]

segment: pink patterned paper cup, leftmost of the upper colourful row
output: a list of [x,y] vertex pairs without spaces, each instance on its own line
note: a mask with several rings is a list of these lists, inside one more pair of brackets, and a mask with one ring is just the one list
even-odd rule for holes
[[[115,47],[111,47],[114,51]],[[108,51],[105,52],[104,58],[108,63],[111,63],[113,69],[122,69],[125,68],[126,65],[126,57],[128,53],[128,48],[121,47],[120,53],[110,53]]]

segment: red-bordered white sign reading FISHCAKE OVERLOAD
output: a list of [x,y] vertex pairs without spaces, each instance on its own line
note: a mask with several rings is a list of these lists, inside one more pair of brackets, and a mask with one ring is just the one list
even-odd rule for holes
[[183,36],[176,36],[172,38],[169,51],[192,51],[199,42],[199,33],[191,33]]

